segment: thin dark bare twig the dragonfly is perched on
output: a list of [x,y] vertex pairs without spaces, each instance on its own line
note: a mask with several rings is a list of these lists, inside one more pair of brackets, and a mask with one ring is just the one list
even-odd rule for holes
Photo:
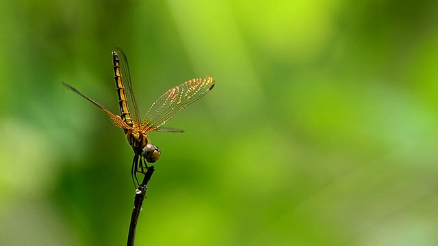
[[143,182],[136,189],[136,197],[134,198],[134,208],[132,209],[131,223],[129,224],[128,246],[134,245],[134,239],[136,238],[138,217],[140,216],[140,211],[142,210],[144,197],[146,197],[148,182],[149,180],[151,180],[151,176],[154,171],[155,171],[155,167],[153,166],[149,167],[146,174],[144,174]]

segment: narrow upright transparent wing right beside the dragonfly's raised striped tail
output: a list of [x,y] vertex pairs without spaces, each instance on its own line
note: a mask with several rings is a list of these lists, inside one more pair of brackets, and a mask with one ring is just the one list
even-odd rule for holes
[[138,106],[136,102],[136,96],[134,96],[134,91],[132,89],[132,83],[131,83],[131,73],[129,72],[129,66],[128,66],[128,59],[125,55],[125,52],[123,52],[120,47],[117,47],[114,52],[117,53],[118,58],[120,60],[120,73],[122,74],[122,81],[126,86],[126,96],[128,100],[128,107],[130,107],[132,110],[130,110],[133,113],[133,120],[138,124],[140,121],[140,111],[138,111]]

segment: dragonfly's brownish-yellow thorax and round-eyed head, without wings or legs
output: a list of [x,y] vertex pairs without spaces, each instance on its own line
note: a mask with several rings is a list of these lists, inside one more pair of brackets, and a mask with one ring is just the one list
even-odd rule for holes
[[149,143],[147,134],[138,131],[127,131],[126,137],[134,153],[143,156],[147,162],[155,163],[161,156],[159,148]]

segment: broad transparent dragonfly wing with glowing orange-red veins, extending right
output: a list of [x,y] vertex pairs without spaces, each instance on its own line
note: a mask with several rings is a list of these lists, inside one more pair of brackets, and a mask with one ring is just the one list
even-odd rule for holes
[[206,77],[205,79],[186,81],[168,90],[149,108],[148,113],[142,120],[142,124],[145,126],[144,131],[159,131],[159,128],[166,124],[168,120],[188,105],[205,96],[213,90],[213,87],[214,79]]

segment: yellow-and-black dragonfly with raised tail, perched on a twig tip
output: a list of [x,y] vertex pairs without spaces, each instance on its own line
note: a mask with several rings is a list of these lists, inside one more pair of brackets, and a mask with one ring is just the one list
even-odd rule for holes
[[[127,56],[122,49],[117,48],[112,51],[112,63],[120,115],[112,113],[99,102],[82,94],[73,86],[68,85],[68,83],[62,82],[62,84],[107,113],[112,124],[123,129],[127,141],[134,152],[131,165],[131,178],[134,184],[139,184],[137,174],[144,174],[144,170],[148,169],[147,163],[155,163],[161,156],[159,148],[154,146],[149,140],[149,133],[153,131],[182,133],[182,130],[166,128],[164,124],[175,117],[181,110],[185,109],[185,107],[188,107],[188,105],[191,105],[213,90],[215,82],[212,77],[205,77],[191,79],[181,85],[173,87],[155,100],[151,107],[149,107],[149,111],[144,118],[140,120],[140,113],[132,88]],[[129,110],[130,107],[132,109],[131,111]]]

